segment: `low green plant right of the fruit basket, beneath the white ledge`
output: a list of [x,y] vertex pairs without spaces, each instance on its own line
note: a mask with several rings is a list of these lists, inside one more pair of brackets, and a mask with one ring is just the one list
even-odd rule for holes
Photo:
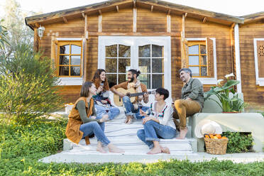
[[229,138],[226,153],[243,153],[252,150],[253,137],[251,134],[226,131],[222,136]]

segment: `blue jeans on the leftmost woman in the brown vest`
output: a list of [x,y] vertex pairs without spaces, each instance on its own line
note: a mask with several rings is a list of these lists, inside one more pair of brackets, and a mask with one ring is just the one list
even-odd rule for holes
[[104,123],[98,123],[97,121],[90,121],[88,123],[84,123],[79,127],[79,130],[84,134],[82,138],[85,136],[90,136],[94,133],[94,136],[97,137],[97,141],[101,141],[104,145],[109,145],[110,141],[104,134]]

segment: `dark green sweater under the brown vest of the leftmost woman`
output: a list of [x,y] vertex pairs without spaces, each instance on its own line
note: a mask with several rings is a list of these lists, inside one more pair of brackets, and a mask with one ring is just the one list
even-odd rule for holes
[[[88,109],[90,107],[90,102],[88,103]],[[90,121],[97,121],[99,123],[100,119],[91,119],[87,118],[87,113],[85,109],[85,102],[83,100],[79,101],[77,103],[76,109],[79,111],[79,116],[82,119],[83,123],[88,123]],[[91,116],[97,116],[97,112],[94,109],[94,106],[92,107],[92,115]]]

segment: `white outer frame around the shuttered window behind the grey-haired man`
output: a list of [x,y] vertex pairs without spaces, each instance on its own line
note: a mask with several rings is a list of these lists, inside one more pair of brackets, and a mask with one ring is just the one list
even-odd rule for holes
[[[206,41],[207,38],[185,38],[187,41],[198,41],[204,40]],[[199,79],[202,84],[217,84],[217,68],[216,68],[216,38],[210,38],[213,40],[214,43],[214,77],[195,77]]]

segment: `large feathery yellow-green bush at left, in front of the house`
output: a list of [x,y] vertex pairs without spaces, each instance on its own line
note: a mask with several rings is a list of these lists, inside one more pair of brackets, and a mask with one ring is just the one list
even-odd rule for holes
[[48,57],[34,53],[27,44],[0,63],[0,109],[7,120],[28,123],[32,119],[60,109],[57,77]]

